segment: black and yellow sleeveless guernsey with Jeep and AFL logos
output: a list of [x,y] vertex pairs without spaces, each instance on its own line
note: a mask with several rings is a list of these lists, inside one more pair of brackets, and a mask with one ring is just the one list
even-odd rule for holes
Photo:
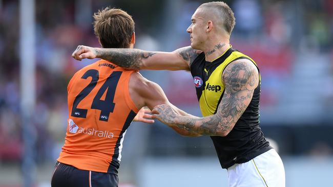
[[[217,112],[224,93],[222,73],[228,64],[238,59],[249,59],[257,66],[254,60],[232,47],[212,62],[206,62],[202,52],[191,64],[191,74],[203,116]],[[272,149],[259,127],[259,98],[260,79],[251,102],[232,131],[225,137],[211,136],[222,168],[247,162]]]

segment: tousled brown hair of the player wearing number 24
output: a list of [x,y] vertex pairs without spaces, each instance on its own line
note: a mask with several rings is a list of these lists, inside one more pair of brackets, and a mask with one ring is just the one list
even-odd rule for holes
[[109,7],[94,13],[94,32],[102,48],[129,48],[134,32],[132,17],[121,9]]

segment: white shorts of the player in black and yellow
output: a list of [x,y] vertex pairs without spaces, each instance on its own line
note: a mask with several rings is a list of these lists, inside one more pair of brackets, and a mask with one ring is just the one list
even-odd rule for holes
[[283,163],[274,149],[227,170],[230,187],[285,187]]

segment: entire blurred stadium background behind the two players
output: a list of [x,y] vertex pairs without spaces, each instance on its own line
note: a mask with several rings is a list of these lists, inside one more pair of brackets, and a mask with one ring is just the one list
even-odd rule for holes
[[[99,46],[91,25],[94,12],[107,6],[126,10],[136,23],[135,48],[173,51],[190,44],[186,28],[204,2],[35,0],[35,107],[28,109],[26,137],[20,90],[29,81],[20,80],[20,56],[31,49],[20,45],[20,29],[27,29],[20,28],[20,2],[0,0],[0,186],[50,186],[67,127],[68,81],[93,62],[75,61],[71,53],[79,44]],[[237,22],[231,43],[260,67],[261,127],[278,147],[286,186],[331,186],[333,1],[225,2]],[[189,73],[141,73],[160,84],[176,106],[200,115]],[[123,145],[120,187],[227,184],[209,137],[182,137],[158,122],[133,123]]]

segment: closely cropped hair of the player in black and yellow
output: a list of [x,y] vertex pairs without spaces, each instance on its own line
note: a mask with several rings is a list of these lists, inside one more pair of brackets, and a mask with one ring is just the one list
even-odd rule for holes
[[236,19],[234,16],[233,10],[224,2],[209,2],[209,3],[204,3],[200,5],[200,7],[205,7],[205,8],[215,8],[218,10],[219,13],[221,13],[221,17],[223,19],[223,27],[224,29],[231,34],[233,31],[235,24],[236,24]]

